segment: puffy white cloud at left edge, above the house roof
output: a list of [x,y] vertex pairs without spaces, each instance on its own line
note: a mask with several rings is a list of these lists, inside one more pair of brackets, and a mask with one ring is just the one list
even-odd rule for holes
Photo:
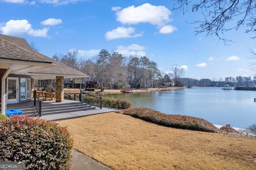
[[5,35],[30,35],[34,37],[47,37],[49,28],[33,29],[27,20],[10,20],[0,27]]

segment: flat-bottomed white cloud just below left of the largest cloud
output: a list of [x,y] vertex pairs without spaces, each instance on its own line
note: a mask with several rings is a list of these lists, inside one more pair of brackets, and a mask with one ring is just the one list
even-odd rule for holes
[[108,31],[105,34],[106,40],[112,40],[112,39],[118,39],[118,38],[128,38],[128,37],[138,37],[142,36],[142,34],[134,34],[135,33],[135,28],[133,27],[118,27],[117,29],[113,29],[112,31]]

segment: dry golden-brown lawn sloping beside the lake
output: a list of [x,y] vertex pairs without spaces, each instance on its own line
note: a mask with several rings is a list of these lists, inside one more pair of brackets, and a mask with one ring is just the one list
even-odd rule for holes
[[255,170],[256,140],[104,113],[58,121],[74,149],[114,170]]

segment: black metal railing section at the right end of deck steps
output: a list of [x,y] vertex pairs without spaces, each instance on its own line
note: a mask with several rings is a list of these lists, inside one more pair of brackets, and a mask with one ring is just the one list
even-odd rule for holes
[[80,90],[80,102],[88,103],[92,106],[102,109],[102,97],[93,96]]

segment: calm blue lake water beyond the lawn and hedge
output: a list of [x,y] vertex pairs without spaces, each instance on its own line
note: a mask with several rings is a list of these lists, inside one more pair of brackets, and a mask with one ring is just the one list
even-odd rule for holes
[[132,107],[147,107],[166,114],[189,115],[216,125],[247,128],[256,123],[256,91],[222,90],[218,87],[125,94],[103,97],[125,98]]

